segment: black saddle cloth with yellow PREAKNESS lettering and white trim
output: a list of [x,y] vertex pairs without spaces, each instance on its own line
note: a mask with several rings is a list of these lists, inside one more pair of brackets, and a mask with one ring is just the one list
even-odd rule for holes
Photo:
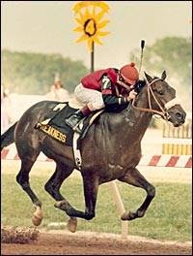
[[81,134],[74,132],[65,122],[65,119],[77,110],[78,109],[69,107],[68,102],[59,103],[45,116],[44,120],[36,124],[35,128],[51,136],[56,141],[69,146],[73,145],[73,137],[74,134],[76,134],[77,149],[79,149],[80,141],[85,138],[90,126],[103,110],[92,112],[79,122],[78,126],[81,130]]

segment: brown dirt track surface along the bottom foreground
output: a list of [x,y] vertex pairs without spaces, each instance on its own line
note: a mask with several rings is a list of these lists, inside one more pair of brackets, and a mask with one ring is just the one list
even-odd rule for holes
[[192,255],[190,242],[121,240],[107,235],[41,232],[29,244],[2,243],[2,255]]

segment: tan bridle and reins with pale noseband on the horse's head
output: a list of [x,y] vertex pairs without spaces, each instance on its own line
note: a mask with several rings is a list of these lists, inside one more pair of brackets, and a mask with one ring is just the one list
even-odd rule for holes
[[[134,105],[135,103],[135,99],[132,101],[132,107],[133,109],[135,110],[138,110],[138,111],[141,111],[141,112],[152,112],[152,113],[156,113],[156,114],[159,114],[160,116],[163,117],[164,120],[167,120],[169,119],[170,115],[168,113],[168,110],[170,108],[172,108],[173,106],[175,106],[177,104],[177,101],[176,101],[176,98],[167,102],[165,105],[164,105],[164,108],[159,104],[159,102],[157,101],[153,91],[152,91],[152,83],[154,83],[155,81],[157,80],[161,80],[161,79],[155,79],[155,80],[152,80],[151,82],[149,82],[147,85],[148,85],[148,102],[149,102],[149,109],[145,109],[145,108],[139,108],[139,107],[136,107]],[[156,110],[153,110],[152,109],[152,103],[151,103],[151,95],[152,95],[152,98],[154,99],[154,101],[156,102],[156,104],[158,105],[160,111],[156,111]]]

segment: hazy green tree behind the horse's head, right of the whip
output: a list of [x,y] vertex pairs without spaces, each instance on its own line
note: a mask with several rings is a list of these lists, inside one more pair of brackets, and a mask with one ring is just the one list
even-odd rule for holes
[[[187,110],[191,110],[192,88],[192,39],[166,37],[158,39],[144,49],[143,69],[157,77],[166,70],[168,81],[177,89]],[[139,63],[139,48],[134,49],[130,59]],[[170,83],[170,82],[169,82]],[[188,99],[188,100],[187,100]]]

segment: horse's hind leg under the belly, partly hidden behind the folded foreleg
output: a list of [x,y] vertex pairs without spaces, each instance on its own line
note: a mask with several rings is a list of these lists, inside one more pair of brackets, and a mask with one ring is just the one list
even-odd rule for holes
[[[73,168],[65,164],[58,163],[56,166],[55,173],[46,182],[44,188],[45,190],[57,201],[55,204],[56,208],[60,208],[62,204],[69,204],[69,202],[61,195],[60,187],[63,181],[70,176]],[[70,206],[70,205],[69,205]],[[68,222],[69,231],[75,232],[77,227],[77,220],[75,217],[70,217]]]

